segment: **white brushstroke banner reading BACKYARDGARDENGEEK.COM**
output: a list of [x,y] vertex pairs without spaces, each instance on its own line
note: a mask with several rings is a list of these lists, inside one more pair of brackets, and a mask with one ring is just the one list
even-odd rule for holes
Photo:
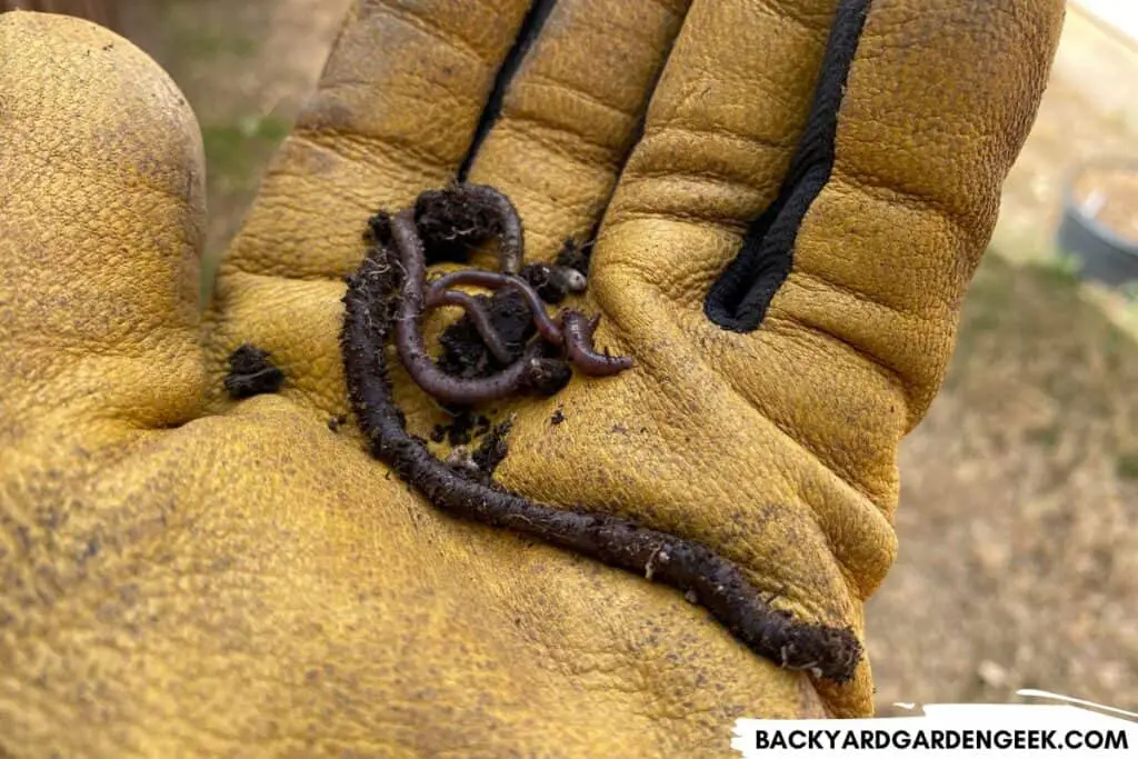
[[930,703],[893,719],[740,719],[731,748],[747,759],[1138,757],[1138,715],[1042,691],[1019,694],[1065,703]]

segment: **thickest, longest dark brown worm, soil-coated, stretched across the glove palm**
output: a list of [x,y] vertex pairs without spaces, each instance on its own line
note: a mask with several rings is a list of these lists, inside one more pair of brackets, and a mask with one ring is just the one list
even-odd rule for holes
[[[348,278],[340,347],[353,409],[372,455],[435,506],[456,517],[531,535],[605,564],[661,581],[702,604],[754,653],[789,669],[849,680],[861,645],[849,628],[801,622],[769,605],[733,563],[707,546],[609,514],[530,501],[497,485],[471,481],[446,467],[405,429],[387,378],[384,348],[398,337],[409,288],[376,246]],[[405,278],[420,278],[407,271]],[[414,288],[411,288],[414,289]],[[421,287],[419,288],[421,298]],[[421,304],[420,304],[421,305]],[[406,339],[406,336],[404,338]]]

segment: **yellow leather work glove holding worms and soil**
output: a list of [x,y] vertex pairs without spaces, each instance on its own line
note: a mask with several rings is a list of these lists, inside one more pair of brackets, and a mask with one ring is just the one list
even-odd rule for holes
[[371,213],[460,174],[527,261],[599,229],[571,303],[635,364],[480,406],[513,419],[494,479],[860,637],[1063,2],[529,5],[358,2],[204,323],[184,99],[109,32],[0,16],[0,752],[721,756],[737,717],[872,711],[864,657],[764,654],[715,599],[373,459],[344,278]]

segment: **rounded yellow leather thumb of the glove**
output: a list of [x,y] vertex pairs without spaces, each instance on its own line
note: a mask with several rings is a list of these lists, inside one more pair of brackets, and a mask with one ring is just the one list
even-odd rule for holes
[[88,22],[0,15],[0,447],[192,418],[193,114],[145,53]]

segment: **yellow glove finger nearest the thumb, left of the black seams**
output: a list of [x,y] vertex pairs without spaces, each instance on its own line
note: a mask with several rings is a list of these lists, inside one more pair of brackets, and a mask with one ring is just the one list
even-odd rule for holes
[[339,279],[380,207],[451,181],[465,158],[525,0],[357,0],[318,90],[269,168],[221,267]]

